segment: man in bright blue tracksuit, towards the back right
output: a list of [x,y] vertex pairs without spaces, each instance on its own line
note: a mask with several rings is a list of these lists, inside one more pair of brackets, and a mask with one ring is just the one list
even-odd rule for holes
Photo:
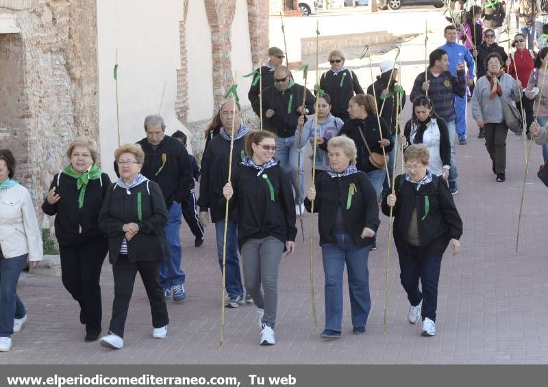
[[[456,77],[458,64],[464,64],[464,62],[466,62],[466,66],[468,66],[469,69],[466,85],[473,85],[475,62],[470,51],[468,51],[465,46],[457,42],[457,29],[453,25],[448,25],[443,30],[443,36],[447,42],[438,48],[447,53],[447,58],[449,59],[449,71],[451,71],[451,73]],[[455,129],[458,135],[458,143],[463,145],[466,144],[466,95],[463,98],[460,96],[455,96],[455,114],[457,117]],[[454,133],[451,133],[451,124],[449,124],[449,122],[447,122],[447,127],[449,128],[451,146],[453,146],[455,138]],[[451,170],[449,170],[449,181],[451,181]]]

